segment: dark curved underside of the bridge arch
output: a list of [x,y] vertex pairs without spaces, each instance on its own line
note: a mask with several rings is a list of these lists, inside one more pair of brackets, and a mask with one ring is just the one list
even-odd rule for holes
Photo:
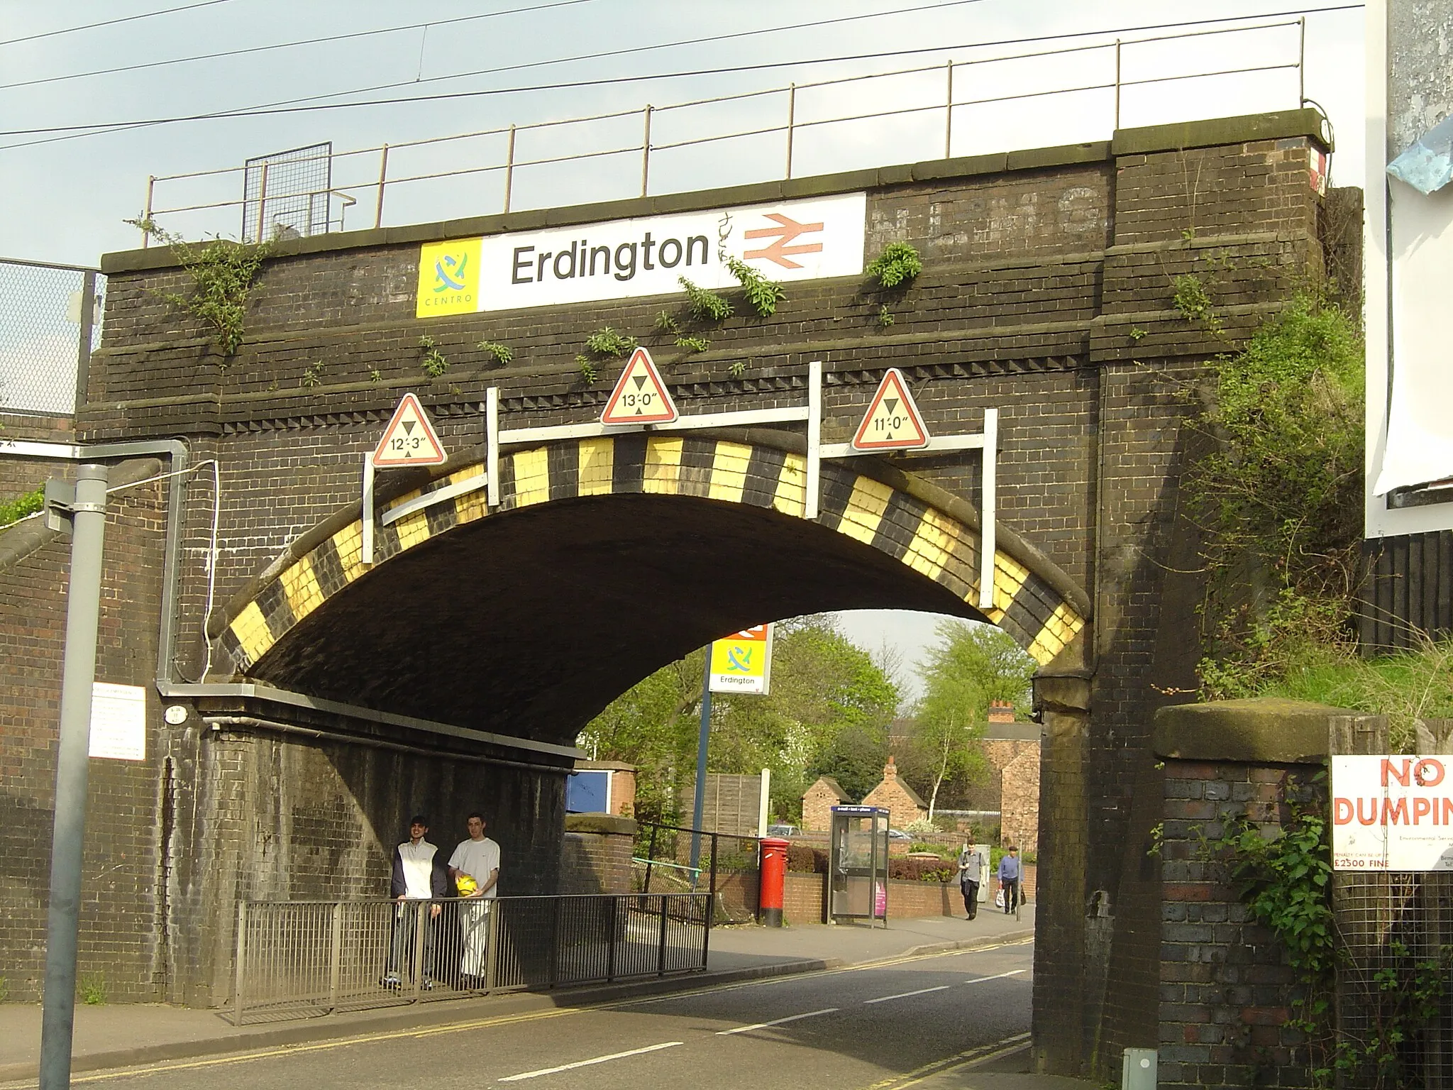
[[748,625],[835,609],[984,619],[888,554],[747,504],[583,497],[456,526],[288,631],[253,677],[571,744],[610,701]]

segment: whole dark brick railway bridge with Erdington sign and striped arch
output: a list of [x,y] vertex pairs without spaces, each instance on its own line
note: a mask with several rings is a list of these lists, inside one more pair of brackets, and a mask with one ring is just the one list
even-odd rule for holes
[[[108,256],[76,439],[109,445],[113,480],[158,480],[118,491],[108,529],[97,677],[145,687],[147,748],[93,762],[83,972],[222,1001],[240,897],[379,892],[416,810],[450,830],[482,808],[501,889],[549,892],[572,743],[610,699],[737,628],[904,607],[1001,625],[1040,663],[1043,1064],[1154,1045],[1148,735],[1197,657],[1186,391],[1345,259],[1324,125],[283,241],[228,356],[167,301],[190,286],[167,249]],[[891,243],[923,272],[888,291],[866,266]],[[693,326],[677,278],[731,285],[728,256],[785,298],[760,315],[728,286],[735,314]],[[1209,310],[1175,305],[1178,278]],[[620,368],[587,349],[606,327],[708,426],[596,426]],[[934,435],[995,411],[988,497],[981,451],[831,456],[888,368]],[[449,459],[379,471],[365,506],[404,392]],[[546,437],[511,439],[530,429]],[[0,953],[20,998],[41,978],[65,545],[16,533]]]

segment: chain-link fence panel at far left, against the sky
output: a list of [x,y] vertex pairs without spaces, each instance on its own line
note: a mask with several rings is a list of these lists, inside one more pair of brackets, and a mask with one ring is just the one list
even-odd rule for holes
[[0,414],[71,416],[100,342],[94,269],[0,259]]

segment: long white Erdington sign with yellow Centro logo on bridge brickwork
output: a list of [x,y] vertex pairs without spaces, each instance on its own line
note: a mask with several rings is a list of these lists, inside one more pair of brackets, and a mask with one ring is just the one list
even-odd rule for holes
[[866,212],[866,193],[846,193],[426,243],[416,315],[670,295],[681,276],[728,288],[728,257],[772,280],[854,276]]

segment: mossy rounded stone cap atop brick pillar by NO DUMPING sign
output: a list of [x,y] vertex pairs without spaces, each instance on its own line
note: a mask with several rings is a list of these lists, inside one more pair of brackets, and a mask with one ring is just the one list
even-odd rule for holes
[[1319,764],[1331,719],[1343,715],[1360,712],[1276,696],[1180,703],[1155,712],[1152,747],[1177,760]]

